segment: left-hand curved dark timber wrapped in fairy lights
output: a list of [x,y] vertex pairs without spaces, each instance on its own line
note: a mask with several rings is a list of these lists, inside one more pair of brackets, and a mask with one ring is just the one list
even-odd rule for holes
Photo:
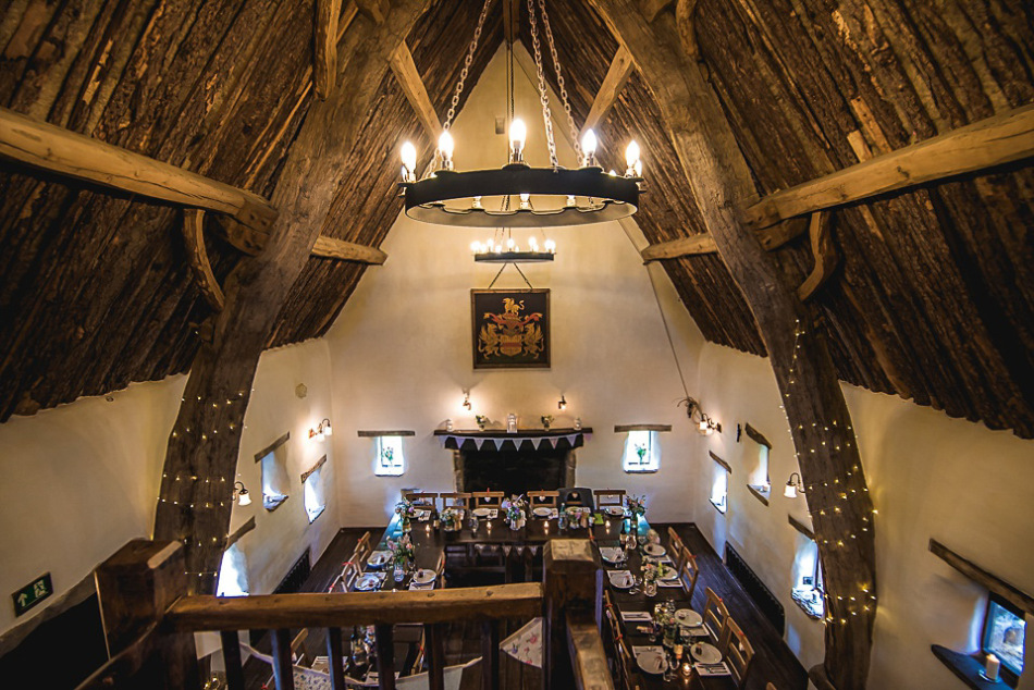
[[[193,592],[213,593],[233,501],[241,429],[259,357],[294,282],[308,261],[343,176],[355,137],[379,95],[391,52],[405,40],[429,0],[396,0],[380,22],[352,22],[341,54],[338,87],[311,104],[284,164],[273,204],[281,214],[266,248],[244,258],[225,284],[190,368],[169,436],[155,519],[157,539],[181,541]],[[335,135],[328,137],[328,132]],[[300,194],[298,181],[311,181]]]

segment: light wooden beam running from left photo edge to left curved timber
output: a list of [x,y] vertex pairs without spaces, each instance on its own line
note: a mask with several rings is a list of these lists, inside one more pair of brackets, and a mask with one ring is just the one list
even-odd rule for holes
[[106,187],[232,215],[268,230],[278,211],[257,194],[0,108],[0,157]]

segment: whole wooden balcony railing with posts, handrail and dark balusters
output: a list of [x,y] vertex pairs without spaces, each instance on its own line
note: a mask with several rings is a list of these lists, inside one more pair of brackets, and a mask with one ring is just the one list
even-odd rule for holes
[[278,690],[293,690],[288,630],[328,628],[334,690],[344,690],[341,628],[372,625],[380,688],[394,688],[395,624],[423,624],[429,687],[444,687],[444,626],[481,621],[482,688],[500,687],[500,621],[543,616],[543,687],[611,689],[600,638],[602,571],[588,540],[552,540],[543,582],[430,591],[188,596],[183,549],[134,540],[96,572],[109,662],[79,690],[200,688],[194,632],[219,631],[226,680],[244,689],[238,630],[268,629]]

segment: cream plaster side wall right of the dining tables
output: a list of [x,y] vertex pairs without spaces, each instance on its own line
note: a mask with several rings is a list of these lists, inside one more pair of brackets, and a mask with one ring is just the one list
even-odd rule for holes
[[[707,344],[699,361],[705,409],[723,434],[700,436],[694,454],[697,521],[719,553],[725,541],[748,559],[786,609],[787,643],[805,667],[823,658],[823,627],[790,600],[798,532],[787,514],[805,525],[803,498],[783,496],[798,471],[775,377],[766,359]],[[958,685],[930,651],[931,644],[974,651],[986,592],[928,552],[931,538],[1023,591],[1034,591],[1034,443],[1008,431],[950,419],[901,398],[842,384],[876,516],[879,608],[871,688],[948,688]],[[773,443],[773,492],[763,506],[746,489],[750,444],[735,442],[737,422],[749,421]],[[716,465],[713,449],[733,466],[729,508],[707,503]],[[820,535],[821,538],[821,535]]]

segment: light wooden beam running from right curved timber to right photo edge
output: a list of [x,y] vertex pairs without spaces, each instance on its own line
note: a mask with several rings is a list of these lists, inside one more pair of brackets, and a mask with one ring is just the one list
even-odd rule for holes
[[1034,106],[1017,108],[776,192],[749,206],[744,220],[766,227],[896,189],[1034,156]]

